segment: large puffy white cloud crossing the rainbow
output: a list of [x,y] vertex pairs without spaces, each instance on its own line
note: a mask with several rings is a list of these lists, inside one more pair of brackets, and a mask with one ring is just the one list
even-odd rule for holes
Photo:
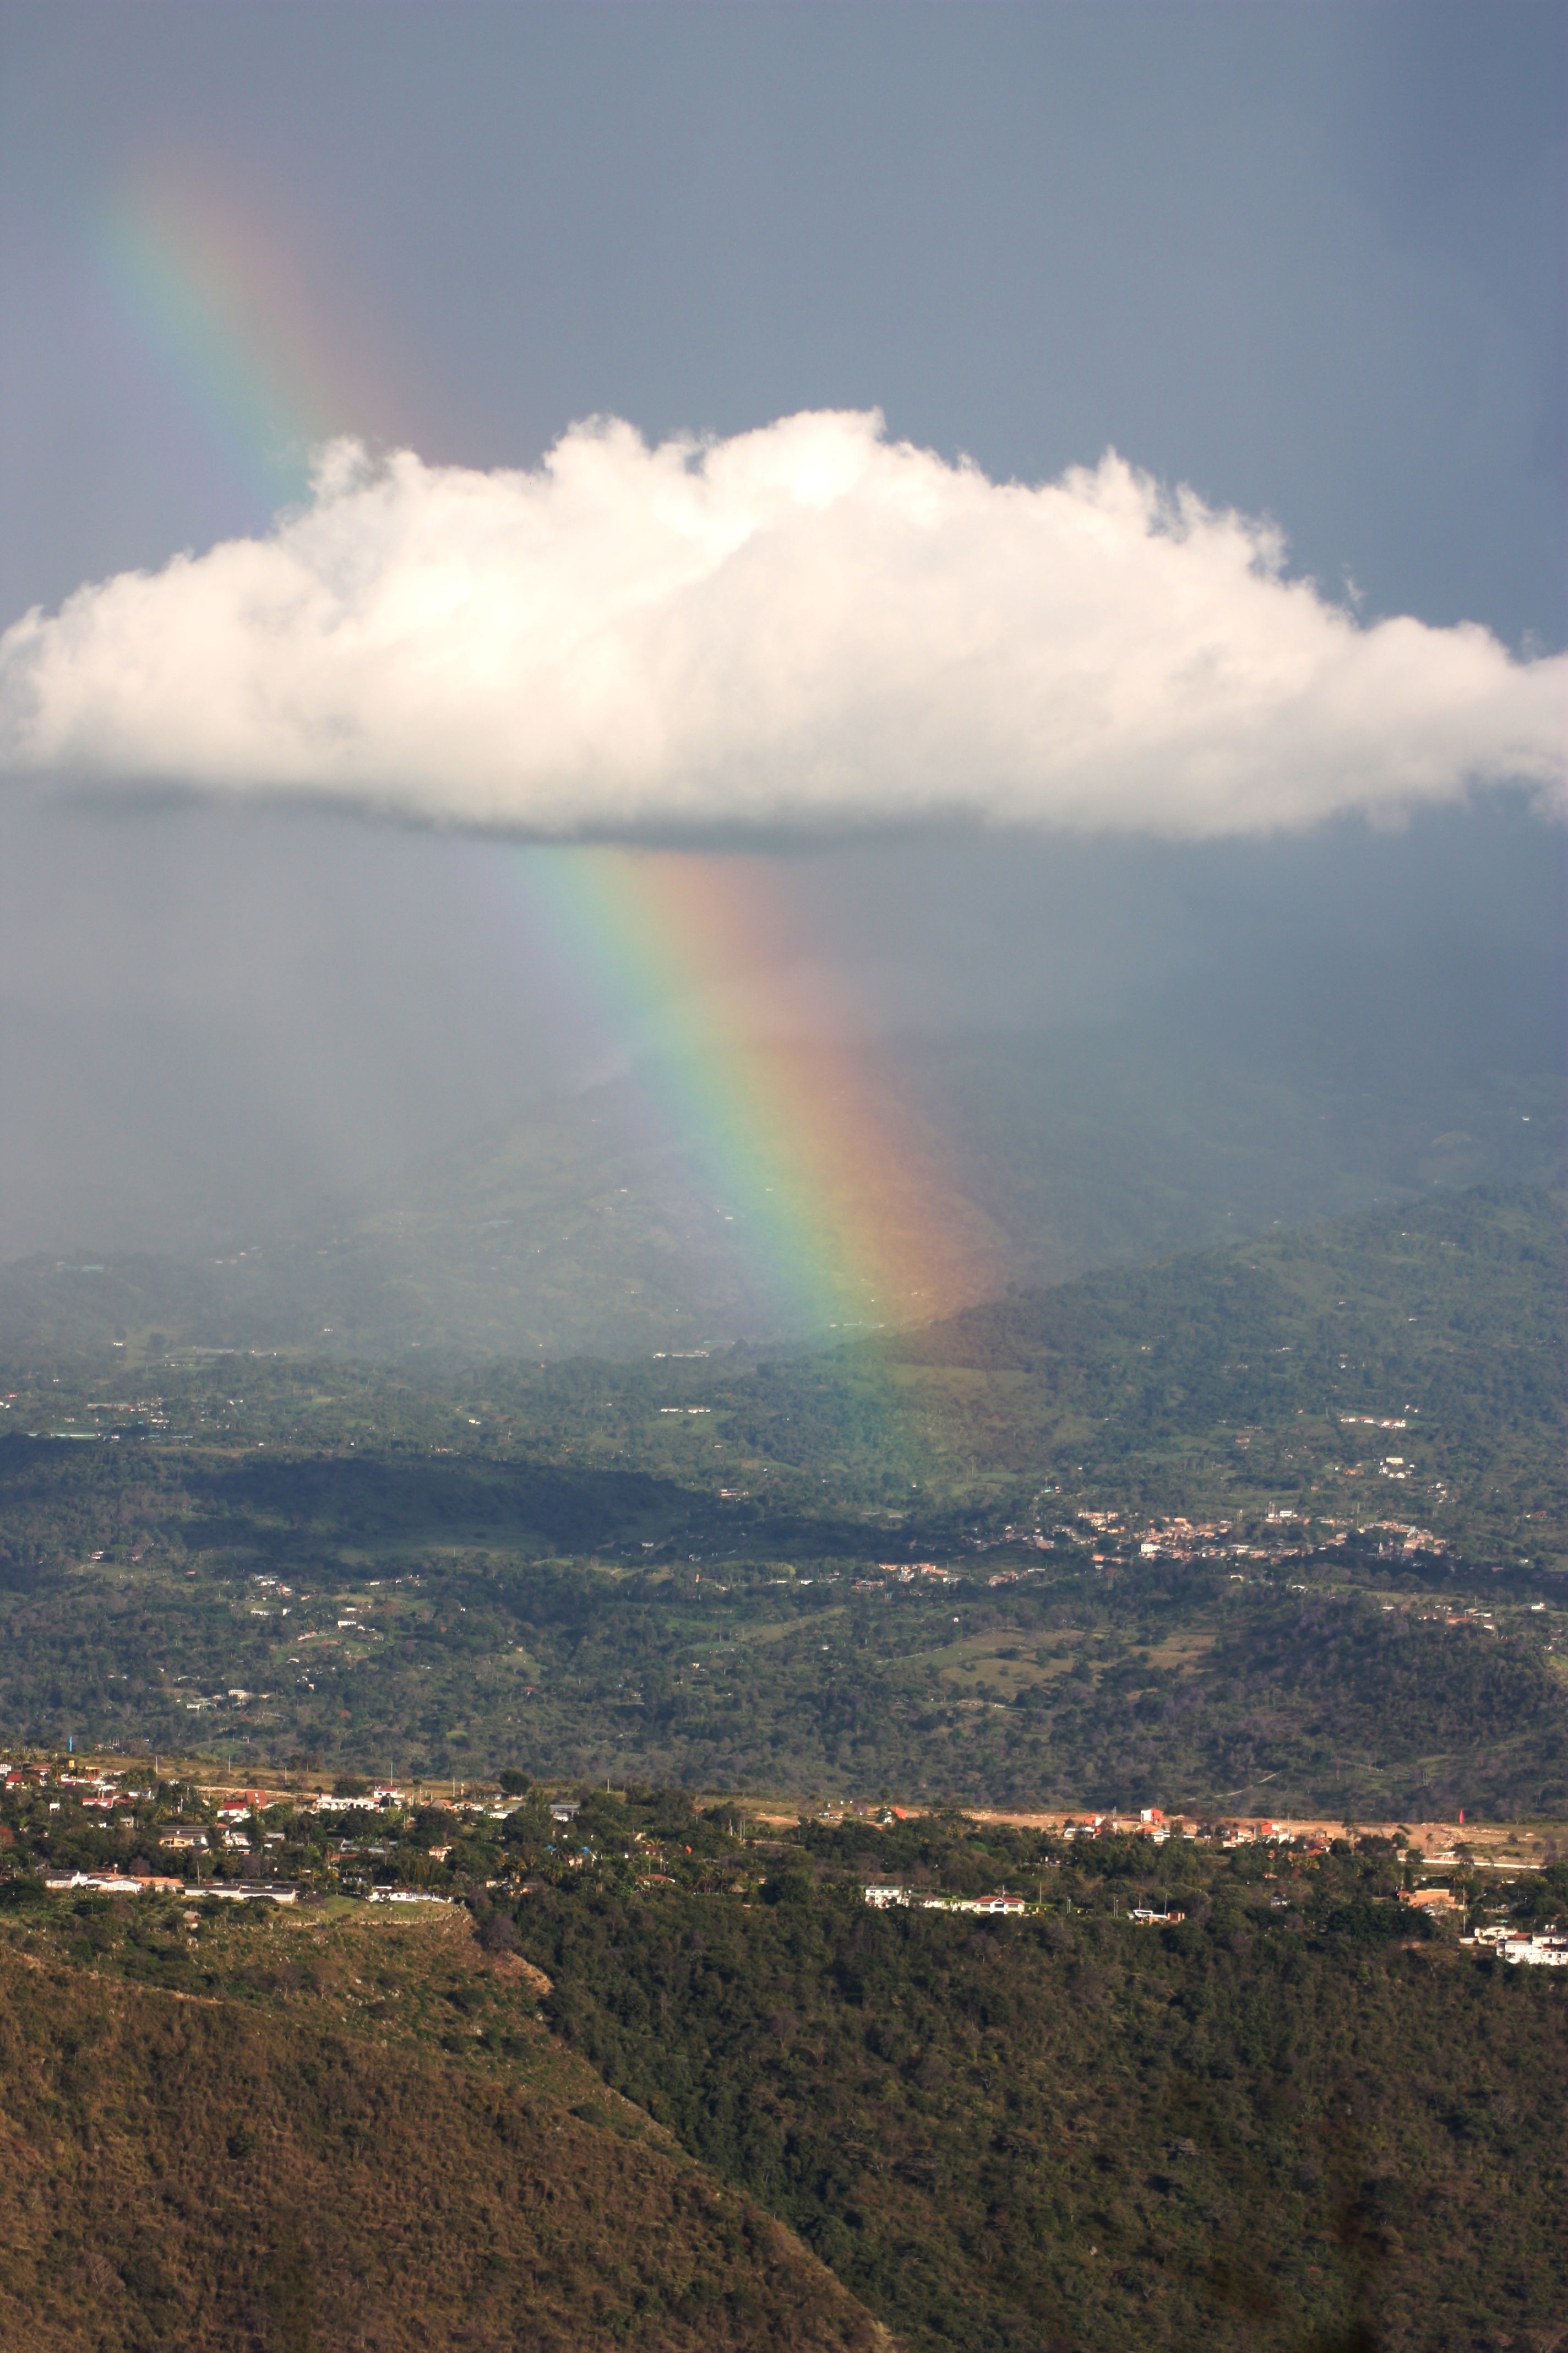
[[531,833],[1234,833],[1474,781],[1563,798],[1563,656],[1359,626],[1267,525],[1121,459],[1044,487],[788,416],[534,473],[324,452],[266,539],[0,640],[12,769]]

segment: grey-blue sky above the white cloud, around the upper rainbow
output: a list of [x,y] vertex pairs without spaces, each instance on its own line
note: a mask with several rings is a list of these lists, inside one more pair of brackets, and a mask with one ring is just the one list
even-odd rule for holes
[[284,256],[329,421],[425,456],[602,409],[1114,442],[1559,645],[1566,47],[1523,0],[9,7],[2,605],[259,520],[106,304],[150,176]]

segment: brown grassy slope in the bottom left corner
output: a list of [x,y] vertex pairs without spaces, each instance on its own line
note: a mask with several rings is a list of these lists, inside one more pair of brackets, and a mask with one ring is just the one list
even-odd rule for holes
[[588,2071],[574,2115],[574,2085],[5,1955],[0,2344],[889,2344],[745,2198],[614,2129]]

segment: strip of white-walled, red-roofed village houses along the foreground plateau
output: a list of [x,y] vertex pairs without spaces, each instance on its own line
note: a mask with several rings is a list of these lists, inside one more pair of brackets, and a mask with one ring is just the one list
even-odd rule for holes
[[[604,1835],[604,1805],[592,1798],[595,1831],[581,1838],[583,1793],[503,1786],[402,1786],[364,1781],[334,1788],[261,1788],[148,1777],[146,1767],[96,1767],[82,1760],[5,1762],[0,1791],[0,1873],[12,1882],[26,1873],[31,1847],[38,1885],[52,1897],[174,1897],[183,1904],[317,1906],[357,1901],[369,1906],[463,1906],[515,1901],[571,1885],[574,1875],[604,1864],[630,1866],[642,1894],[684,1889],[698,1894],[755,1894],[755,1859],[780,1835],[896,1833],[931,1821],[973,1821],[1037,1842],[1034,1892],[1016,1887],[945,1889],[893,1873],[867,1871],[863,1899],[872,1911],[966,1913],[990,1920],[1060,1911],[1048,1875],[1072,1864],[1086,1847],[1126,1857],[1140,1847],[1154,1859],[1171,1842],[1241,1854],[1276,1857],[1265,1875],[1309,1871],[1326,1857],[1382,1854],[1399,1885],[1394,1901],[1425,1922],[1458,1932],[1458,1944],[1476,1955],[1533,1967],[1568,1967],[1568,1920],[1516,1925],[1505,1913],[1509,1897],[1528,1887],[1556,1861],[1549,1833],[1533,1838],[1505,1824],[1347,1824],[1326,1819],[1166,1814],[1164,1807],[1133,1812],[1037,1812],[973,1817],[926,1817],[919,1807],[823,1805],[785,1812],[766,1802],[708,1798],[693,1807],[722,1819],[752,1866],[715,1875],[693,1845],[684,1849],[646,1828]],[[522,1777],[508,1777],[512,1781]],[[512,1847],[512,1835],[524,1840]],[[625,1845],[618,1849],[618,1840]],[[113,1859],[108,1842],[122,1852]],[[125,1852],[132,1847],[134,1852]],[[9,1849],[9,1852],[7,1852]],[[616,1852],[618,1849],[618,1852]],[[155,1859],[153,1859],[155,1857]],[[870,1857],[867,1857],[870,1861]],[[7,1871],[9,1864],[9,1871]],[[42,1868],[40,1868],[42,1866]],[[1276,1899],[1286,1908],[1286,1899]],[[195,1918],[195,1915],[188,1915]],[[1187,1913],[1168,1894],[1152,1892],[1112,1918],[1138,1929],[1175,1929]]]

